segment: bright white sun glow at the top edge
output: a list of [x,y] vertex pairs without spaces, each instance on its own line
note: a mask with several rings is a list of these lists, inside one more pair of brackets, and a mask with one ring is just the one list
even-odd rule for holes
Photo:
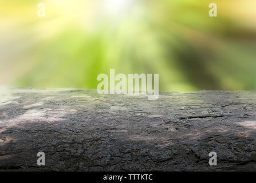
[[133,0],[104,0],[104,8],[110,15],[120,15],[131,9]]

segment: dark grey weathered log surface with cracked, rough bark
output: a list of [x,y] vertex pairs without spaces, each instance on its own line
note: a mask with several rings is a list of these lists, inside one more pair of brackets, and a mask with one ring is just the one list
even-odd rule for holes
[[255,171],[255,140],[256,92],[0,92],[0,170]]

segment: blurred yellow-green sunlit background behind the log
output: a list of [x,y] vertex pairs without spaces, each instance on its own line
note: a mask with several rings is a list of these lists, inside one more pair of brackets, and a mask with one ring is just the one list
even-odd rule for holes
[[115,69],[159,73],[160,91],[256,89],[255,0],[0,0],[0,23],[0,85],[96,89]]

